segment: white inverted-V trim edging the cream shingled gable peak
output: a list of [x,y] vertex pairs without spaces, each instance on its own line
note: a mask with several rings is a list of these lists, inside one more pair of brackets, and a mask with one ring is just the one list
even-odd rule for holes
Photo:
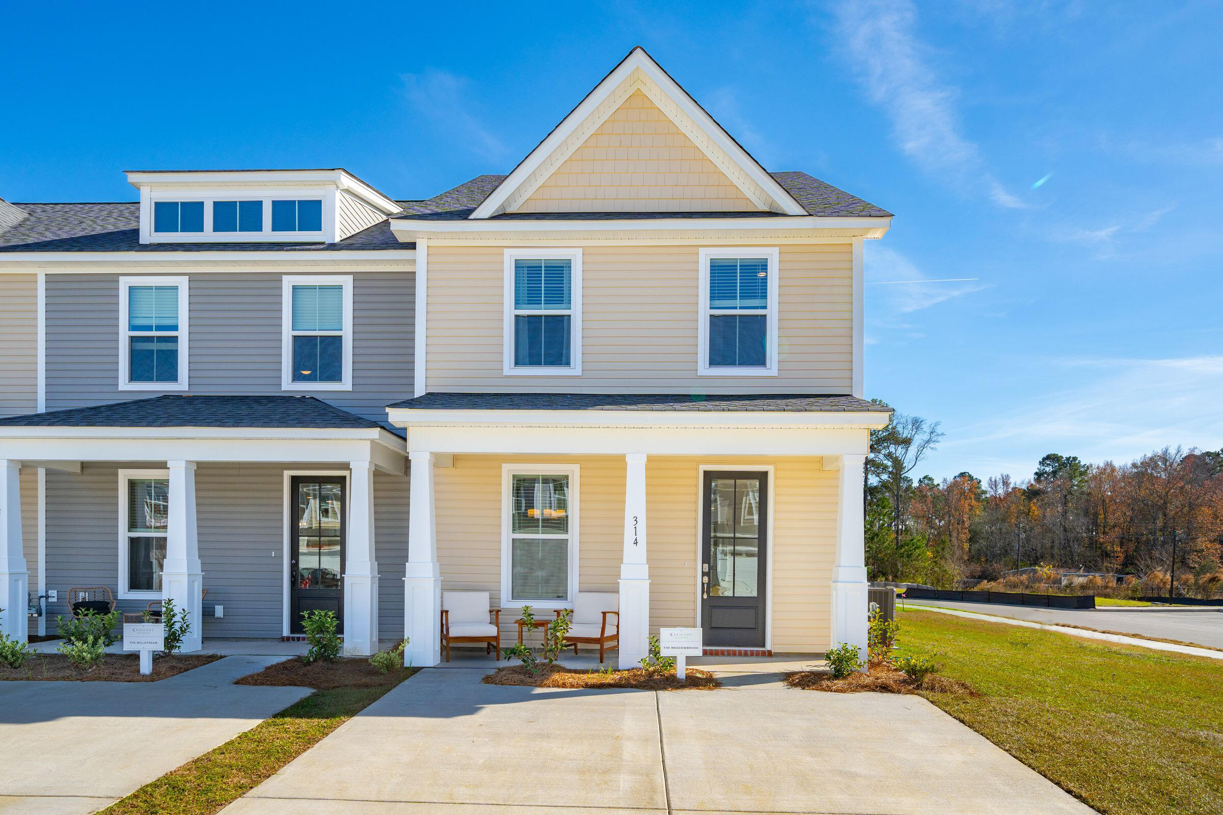
[[512,211],[635,90],[643,92],[761,210],[805,214],[801,205],[640,45],[468,215]]

